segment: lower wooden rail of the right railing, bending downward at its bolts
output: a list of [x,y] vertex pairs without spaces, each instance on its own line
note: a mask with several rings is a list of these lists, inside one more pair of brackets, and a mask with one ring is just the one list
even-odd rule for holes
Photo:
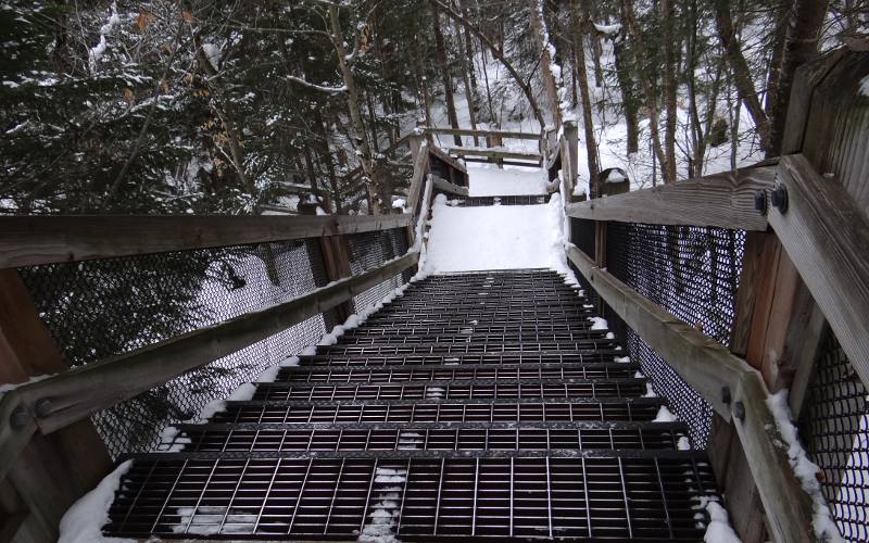
[[[752,476],[769,519],[774,541],[817,541],[813,531],[813,503],[794,475],[788,445],[766,403],[769,394],[763,378],[745,361],[658,305],[643,298],[579,249],[568,248],[568,257],[609,307],[667,362],[722,419],[734,420]],[[721,388],[733,394],[721,401]],[[744,418],[731,417],[730,405],[742,405]]]

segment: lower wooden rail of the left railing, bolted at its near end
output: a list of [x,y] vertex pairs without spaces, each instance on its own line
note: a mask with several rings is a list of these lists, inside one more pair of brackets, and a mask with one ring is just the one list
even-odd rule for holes
[[[393,277],[419,260],[416,251],[389,261],[379,268],[342,279],[307,294],[236,318],[172,338],[143,349],[79,366],[41,381],[23,384],[12,396],[0,399],[0,411],[8,401],[21,401],[29,413],[47,400],[39,430],[49,434],[91,413],[134,397],[186,371],[261,341],[302,320],[319,315],[354,295]],[[12,397],[12,400],[9,400]],[[9,418],[0,420],[2,432]],[[3,449],[0,465],[14,459]]]

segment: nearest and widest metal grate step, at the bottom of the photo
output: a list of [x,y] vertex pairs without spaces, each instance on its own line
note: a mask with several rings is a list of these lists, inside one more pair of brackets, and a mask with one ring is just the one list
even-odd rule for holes
[[[381,513],[398,538],[700,541],[696,455],[659,458],[139,459],[108,535],[356,538]],[[142,490],[147,489],[147,490]],[[703,518],[703,515],[700,515]]]

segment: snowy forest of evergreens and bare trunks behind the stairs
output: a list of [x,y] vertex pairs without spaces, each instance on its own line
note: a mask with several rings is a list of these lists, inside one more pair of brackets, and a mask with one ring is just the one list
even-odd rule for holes
[[796,67],[867,34],[866,0],[3,1],[0,213],[390,213],[420,125],[572,118],[592,197],[673,182],[776,155]]

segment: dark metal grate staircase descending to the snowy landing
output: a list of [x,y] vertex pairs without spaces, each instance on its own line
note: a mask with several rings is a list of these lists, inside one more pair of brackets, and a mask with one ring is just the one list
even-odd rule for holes
[[[104,527],[162,539],[701,541],[705,453],[551,270],[432,276],[251,400],[133,456]],[[172,443],[166,443],[171,445]]]

